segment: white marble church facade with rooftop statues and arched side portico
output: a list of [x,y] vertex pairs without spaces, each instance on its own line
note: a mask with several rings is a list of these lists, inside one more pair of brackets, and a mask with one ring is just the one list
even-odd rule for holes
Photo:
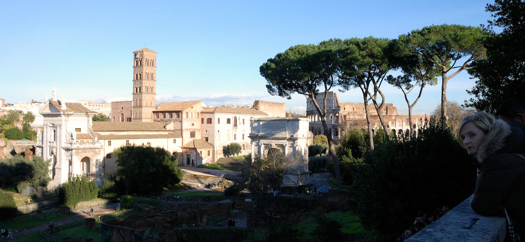
[[[102,145],[99,142],[78,142],[89,137],[91,118],[96,112],[80,103],[45,99],[40,114],[44,117],[43,132],[38,134],[37,154],[51,159],[50,187],[68,181],[70,176],[86,175],[102,184]],[[78,139],[77,139],[78,138]]]

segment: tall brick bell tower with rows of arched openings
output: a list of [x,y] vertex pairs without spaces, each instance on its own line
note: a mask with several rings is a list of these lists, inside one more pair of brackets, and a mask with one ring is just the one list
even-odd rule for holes
[[153,122],[157,52],[142,48],[133,51],[132,122]]

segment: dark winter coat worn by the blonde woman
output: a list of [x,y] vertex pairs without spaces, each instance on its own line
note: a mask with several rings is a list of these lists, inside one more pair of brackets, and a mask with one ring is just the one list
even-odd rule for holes
[[501,216],[505,205],[516,232],[525,232],[525,131],[518,125],[497,120],[478,147],[476,160],[481,173],[476,181],[472,209],[484,216]]

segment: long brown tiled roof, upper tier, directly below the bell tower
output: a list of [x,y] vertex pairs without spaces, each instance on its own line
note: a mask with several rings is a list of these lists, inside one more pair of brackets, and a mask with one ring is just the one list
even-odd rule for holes
[[93,122],[93,131],[166,131],[160,122]]

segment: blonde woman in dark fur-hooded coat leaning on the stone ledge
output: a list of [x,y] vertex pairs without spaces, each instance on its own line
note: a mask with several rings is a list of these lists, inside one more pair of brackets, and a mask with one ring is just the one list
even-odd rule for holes
[[[498,117],[502,110],[498,110]],[[472,209],[505,216],[508,238],[525,238],[525,131],[519,125],[477,112],[459,124],[459,142],[478,166]],[[516,233],[514,233],[516,232]]]

